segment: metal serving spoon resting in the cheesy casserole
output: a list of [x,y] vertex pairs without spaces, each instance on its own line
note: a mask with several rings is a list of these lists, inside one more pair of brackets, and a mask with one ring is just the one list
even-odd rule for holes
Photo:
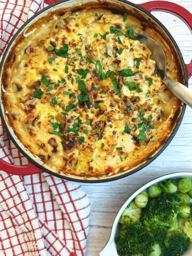
[[161,81],[177,96],[192,108],[192,92],[183,84],[174,81],[166,75],[166,56],[162,46],[153,38],[138,34],[137,39],[151,51],[150,59],[155,60]]

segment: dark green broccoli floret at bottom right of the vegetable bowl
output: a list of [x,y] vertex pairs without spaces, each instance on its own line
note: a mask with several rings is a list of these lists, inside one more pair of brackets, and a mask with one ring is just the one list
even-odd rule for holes
[[170,233],[164,245],[162,256],[181,256],[187,251],[190,239],[186,234],[174,231]]

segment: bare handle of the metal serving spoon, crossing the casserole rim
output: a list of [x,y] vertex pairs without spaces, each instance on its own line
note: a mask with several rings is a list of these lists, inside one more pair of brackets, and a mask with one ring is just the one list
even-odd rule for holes
[[188,87],[171,79],[169,76],[167,76],[163,82],[173,92],[173,94],[175,94],[175,96],[192,108],[192,92]]

